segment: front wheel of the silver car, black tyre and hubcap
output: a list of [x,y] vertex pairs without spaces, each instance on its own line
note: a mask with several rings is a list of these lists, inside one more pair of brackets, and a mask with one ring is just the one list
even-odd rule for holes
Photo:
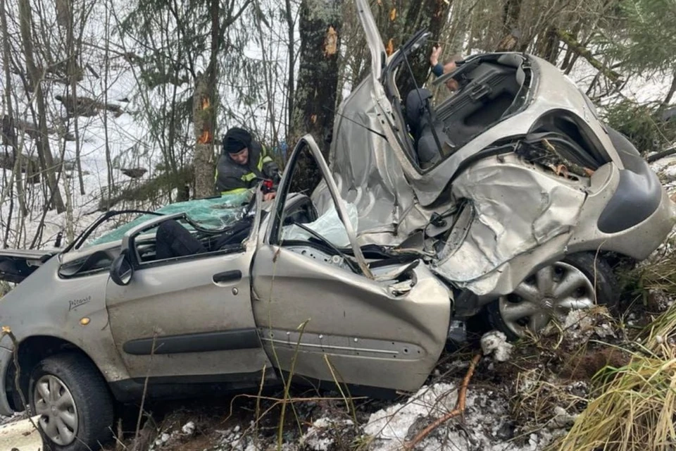
[[111,437],[113,402],[103,376],[81,354],[56,354],[30,376],[30,407],[46,450],[99,449]]

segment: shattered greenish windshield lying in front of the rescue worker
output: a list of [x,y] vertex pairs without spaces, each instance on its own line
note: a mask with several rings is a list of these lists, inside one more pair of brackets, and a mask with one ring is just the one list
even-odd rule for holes
[[[252,189],[237,194],[223,194],[223,196],[220,197],[176,202],[175,204],[165,205],[155,212],[160,214],[185,213],[192,221],[198,223],[201,228],[220,230],[242,218],[244,206],[251,201],[253,192],[254,190]],[[124,226],[115,228],[115,230],[112,230],[111,232],[105,233],[94,240],[90,240],[84,247],[121,240],[123,235],[127,233],[127,230],[130,230],[151,218],[153,218],[153,216],[150,214],[139,216],[133,221],[126,223]],[[189,224],[185,224],[185,227],[192,229],[192,226]],[[154,233],[153,230],[149,230],[146,233]]]

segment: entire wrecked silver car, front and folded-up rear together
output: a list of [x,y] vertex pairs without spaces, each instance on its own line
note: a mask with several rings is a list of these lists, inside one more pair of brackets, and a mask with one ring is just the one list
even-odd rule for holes
[[[273,203],[261,190],[244,205],[202,199],[220,226],[167,211],[87,241],[97,221],[65,249],[0,252],[0,276],[18,283],[0,303],[0,414],[24,398],[50,445],[87,450],[110,437],[113,400],[146,383],[151,397],[292,376],[417,390],[451,319],[485,310],[518,337],[616,302],[608,256],[644,259],[675,221],[636,149],[533,56],[468,58],[436,80],[458,82],[436,104],[400,92],[426,35],[383,61],[357,4],[372,73],[339,109],[330,161],[304,137]],[[292,192],[308,165],[321,180]],[[158,259],[165,221],[208,252]]]

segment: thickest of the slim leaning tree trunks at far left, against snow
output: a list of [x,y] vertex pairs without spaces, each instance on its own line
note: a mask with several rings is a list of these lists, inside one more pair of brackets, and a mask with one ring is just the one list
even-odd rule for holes
[[[32,86],[32,89],[34,89],[33,95],[35,96],[35,101],[37,103],[39,130],[40,134],[42,135],[42,138],[38,140],[37,143],[37,151],[40,157],[40,163],[42,163],[43,169],[46,173],[49,190],[51,190],[51,204],[56,208],[58,213],[62,213],[65,211],[65,206],[63,205],[61,192],[58,190],[54,159],[51,156],[51,150],[49,149],[49,139],[47,139],[47,117],[46,107],[44,104],[44,94],[42,92],[42,76],[35,66],[35,61],[33,60],[30,0],[19,0],[19,18],[21,24],[21,38],[23,40],[26,66],[28,69],[28,77],[30,80],[30,85]],[[49,205],[45,205],[45,207],[47,208]]]

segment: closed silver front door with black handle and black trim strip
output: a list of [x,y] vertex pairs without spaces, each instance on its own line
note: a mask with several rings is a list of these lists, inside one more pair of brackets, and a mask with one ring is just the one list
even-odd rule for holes
[[[260,215],[258,211],[258,215]],[[123,237],[123,248],[168,215]],[[254,230],[251,231],[254,234]],[[258,378],[270,362],[251,311],[249,268],[255,241],[231,252],[137,263],[128,285],[108,280],[106,305],[115,346],[132,378]],[[130,250],[131,252],[131,250]]]

